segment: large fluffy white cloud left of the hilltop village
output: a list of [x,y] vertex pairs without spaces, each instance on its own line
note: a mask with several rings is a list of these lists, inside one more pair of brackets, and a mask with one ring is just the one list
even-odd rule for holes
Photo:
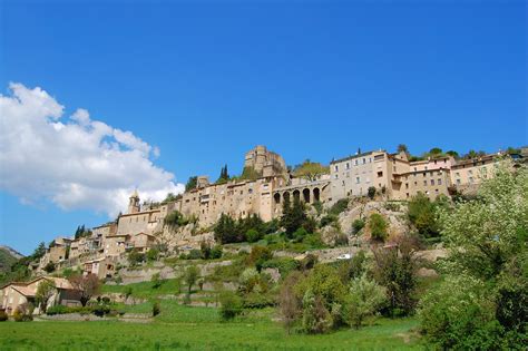
[[157,147],[90,119],[86,109],[62,117],[63,106],[41,88],[9,88],[11,96],[0,95],[0,188],[23,203],[46,198],[114,216],[135,187],[154,201],[183,192],[172,173],[153,164]]

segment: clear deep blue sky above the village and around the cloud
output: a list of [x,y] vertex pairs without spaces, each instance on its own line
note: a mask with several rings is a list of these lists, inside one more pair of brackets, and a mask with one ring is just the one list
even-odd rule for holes
[[[256,144],[289,164],[528,144],[525,1],[0,3],[1,94],[40,87],[130,130],[175,182],[237,173]],[[47,196],[0,188],[0,244],[108,220]]]

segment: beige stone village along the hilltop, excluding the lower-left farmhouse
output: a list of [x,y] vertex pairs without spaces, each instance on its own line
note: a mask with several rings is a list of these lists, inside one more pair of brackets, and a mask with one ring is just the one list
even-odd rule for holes
[[[471,193],[482,179],[493,176],[493,165],[501,157],[497,153],[459,160],[450,155],[410,160],[403,150],[372,150],[332,159],[326,169],[296,176],[281,155],[256,146],[245,154],[241,177],[211,183],[207,176],[198,176],[195,187],[159,204],[141,206],[138,192],[134,192],[127,213],[116,222],[91,228],[89,236],[57,237],[35,269],[42,273],[50,263],[58,267],[80,264],[85,273],[111,276],[119,257],[131,250],[145,253],[160,242],[169,248],[197,248],[204,240],[214,242],[212,226],[222,214],[233,218],[257,215],[268,222],[281,216],[284,201],[295,198],[331,206],[369,192],[389,201],[409,199],[418,193],[431,199]],[[190,218],[193,233],[174,233],[165,224],[175,212]]]

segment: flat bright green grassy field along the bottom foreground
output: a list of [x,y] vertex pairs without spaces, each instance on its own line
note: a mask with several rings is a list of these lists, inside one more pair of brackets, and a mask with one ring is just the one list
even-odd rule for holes
[[[147,312],[148,304],[136,306]],[[145,310],[145,311],[144,311]],[[3,322],[1,350],[419,350],[413,319],[379,319],[360,330],[326,335],[287,335],[273,311],[221,322],[215,309],[162,304],[153,323]]]

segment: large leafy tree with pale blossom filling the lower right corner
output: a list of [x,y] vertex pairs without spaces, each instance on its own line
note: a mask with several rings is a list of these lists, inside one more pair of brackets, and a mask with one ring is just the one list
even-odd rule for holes
[[422,332],[440,348],[526,344],[528,169],[512,169],[501,162],[477,199],[440,209],[446,280],[420,303]]

